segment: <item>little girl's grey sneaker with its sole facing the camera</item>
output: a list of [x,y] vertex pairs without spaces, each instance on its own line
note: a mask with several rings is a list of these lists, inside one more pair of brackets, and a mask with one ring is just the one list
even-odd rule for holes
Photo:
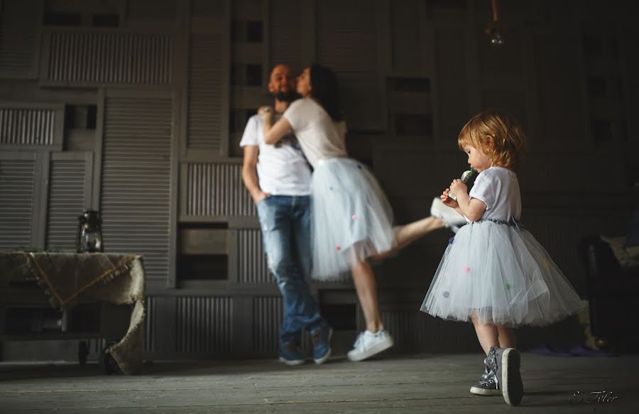
[[497,387],[508,405],[518,405],[523,397],[521,355],[514,348],[492,347],[488,352],[488,366],[495,373]]

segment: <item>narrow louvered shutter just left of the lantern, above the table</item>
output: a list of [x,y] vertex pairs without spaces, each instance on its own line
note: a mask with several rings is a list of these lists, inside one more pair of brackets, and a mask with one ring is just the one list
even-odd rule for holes
[[87,205],[84,171],[83,160],[50,162],[47,249],[75,251],[77,216]]

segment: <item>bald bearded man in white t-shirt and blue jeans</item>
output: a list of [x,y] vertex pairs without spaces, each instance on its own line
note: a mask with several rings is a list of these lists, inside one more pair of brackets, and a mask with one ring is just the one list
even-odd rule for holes
[[[273,68],[268,92],[275,100],[275,119],[297,99],[295,76],[288,65]],[[240,141],[244,148],[242,180],[255,202],[262,230],[268,270],[283,297],[279,357],[288,365],[302,364],[302,329],[311,334],[313,360],[322,364],[331,354],[332,329],[320,315],[310,293],[311,271],[310,179],[311,170],[295,136],[266,145],[263,118],[253,115]]]

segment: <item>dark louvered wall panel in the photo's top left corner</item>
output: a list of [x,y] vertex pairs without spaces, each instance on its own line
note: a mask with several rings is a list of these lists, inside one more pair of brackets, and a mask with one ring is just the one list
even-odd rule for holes
[[40,16],[33,11],[38,10],[39,3],[34,0],[0,3],[0,72],[3,75],[23,75],[25,70],[34,70],[35,33]]

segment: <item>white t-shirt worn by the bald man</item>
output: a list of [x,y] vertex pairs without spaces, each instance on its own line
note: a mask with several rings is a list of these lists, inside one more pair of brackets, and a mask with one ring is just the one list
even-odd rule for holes
[[240,146],[259,146],[257,173],[260,188],[272,195],[310,195],[311,170],[295,136],[275,145],[264,143],[264,121],[253,115],[246,123]]

